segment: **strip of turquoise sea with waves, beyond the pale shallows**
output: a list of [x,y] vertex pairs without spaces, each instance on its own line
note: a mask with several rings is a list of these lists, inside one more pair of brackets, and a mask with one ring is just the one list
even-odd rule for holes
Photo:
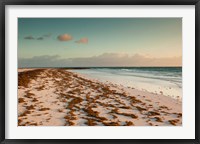
[[90,69],[119,76],[160,79],[182,87],[182,67],[104,67]]

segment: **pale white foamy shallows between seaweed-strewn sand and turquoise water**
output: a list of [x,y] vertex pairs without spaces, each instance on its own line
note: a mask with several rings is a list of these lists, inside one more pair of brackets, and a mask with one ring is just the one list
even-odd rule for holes
[[182,99],[182,88],[177,84],[164,79],[155,79],[149,77],[138,77],[108,73],[95,69],[70,70],[88,78],[96,79],[101,82],[111,82],[125,87],[131,87],[142,91],[148,91],[156,94],[163,94],[175,99]]

